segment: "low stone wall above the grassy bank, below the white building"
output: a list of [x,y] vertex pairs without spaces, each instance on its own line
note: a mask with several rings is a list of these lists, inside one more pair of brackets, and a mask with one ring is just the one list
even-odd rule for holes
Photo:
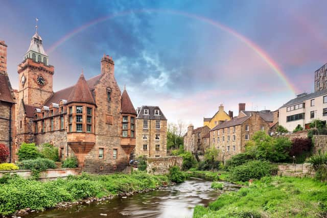
[[315,171],[310,163],[278,165],[278,176],[314,177]]

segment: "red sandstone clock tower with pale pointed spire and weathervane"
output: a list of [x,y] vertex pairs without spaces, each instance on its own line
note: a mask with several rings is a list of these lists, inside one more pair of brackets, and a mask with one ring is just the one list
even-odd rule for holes
[[24,104],[35,107],[42,106],[53,94],[54,66],[49,65],[49,57],[43,49],[37,26],[24,61],[18,65],[17,70],[19,101],[23,100]]

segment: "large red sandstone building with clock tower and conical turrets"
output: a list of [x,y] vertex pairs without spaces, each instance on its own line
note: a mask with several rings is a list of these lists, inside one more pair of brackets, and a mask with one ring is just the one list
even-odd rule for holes
[[54,66],[35,33],[24,60],[18,65],[16,142],[51,143],[60,158],[78,157],[91,173],[122,171],[135,148],[132,102],[114,78],[114,61],[101,59],[101,73],[53,91]]

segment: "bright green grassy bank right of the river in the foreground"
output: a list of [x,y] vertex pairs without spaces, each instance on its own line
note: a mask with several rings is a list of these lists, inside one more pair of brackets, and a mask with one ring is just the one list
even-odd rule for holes
[[226,192],[194,217],[326,217],[327,185],[311,178],[264,177]]

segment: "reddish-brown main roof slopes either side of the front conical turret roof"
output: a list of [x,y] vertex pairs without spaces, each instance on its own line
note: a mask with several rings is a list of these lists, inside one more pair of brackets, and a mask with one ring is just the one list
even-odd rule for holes
[[[98,75],[96,77],[92,77],[91,79],[86,81],[90,90],[94,90],[95,85],[100,80],[101,76],[102,75],[100,74],[100,75]],[[49,106],[51,103],[59,103],[59,101],[62,99],[68,100],[69,95],[71,95],[71,92],[74,87],[75,86],[70,86],[70,87],[67,87],[67,88],[64,88],[64,89],[54,92],[53,95],[46,101],[44,106]],[[92,93],[92,97],[94,98],[93,93]]]

